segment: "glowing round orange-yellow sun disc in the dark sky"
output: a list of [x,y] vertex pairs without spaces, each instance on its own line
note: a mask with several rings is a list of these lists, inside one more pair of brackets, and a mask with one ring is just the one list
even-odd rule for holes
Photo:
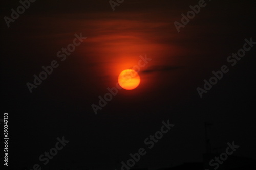
[[119,74],[118,83],[125,90],[133,90],[140,84],[140,76],[133,69],[125,69]]

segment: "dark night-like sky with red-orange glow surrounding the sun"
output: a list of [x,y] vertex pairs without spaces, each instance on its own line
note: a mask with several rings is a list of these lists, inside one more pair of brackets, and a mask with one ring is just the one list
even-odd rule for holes
[[[38,0],[9,28],[2,19],[0,118],[8,112],[8,167],[121,169],[120,162],[146,148],[144,140],[167,120],[175,126],[147,149],[137,167],[202,161],[204,122],[213,124],[212,148],[223,152],[235,141],[240,148],[234,155],[256,159],[256,46],[236,65],[227,62],[246,38],[256,41],[255,3],[206,1],[178,33],[174,22],[197,4],[125,0],[113,11],[103,0]],[[2,2],[1,17],[10,17],[19,5]],[[57,52],[80,33],[87,39],[61,61]],[[91,105],[98,104],[98,96],[145,54],[152,60],[139,72],[141,84],[119,90],[95,115]],[[59,66],[30,93],[26,84],[53,60]],[[229,72],[201,99],[197,88],[223,65]],[[70,142],[42,165],[38,157],[62,136]]]

